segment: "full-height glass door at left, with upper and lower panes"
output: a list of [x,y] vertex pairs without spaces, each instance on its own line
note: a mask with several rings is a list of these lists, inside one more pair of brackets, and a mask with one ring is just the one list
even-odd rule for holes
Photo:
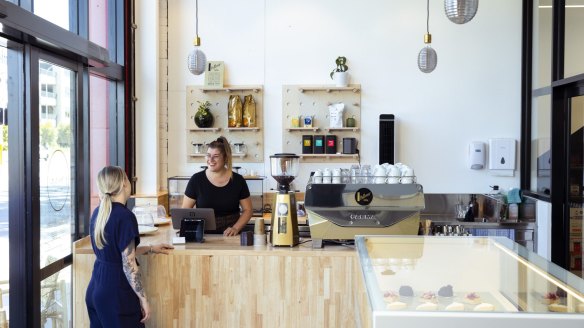
[[77,196],[77,64],[40,54],[38,61],[38,186],[41,327],[71,319],[72,244]]

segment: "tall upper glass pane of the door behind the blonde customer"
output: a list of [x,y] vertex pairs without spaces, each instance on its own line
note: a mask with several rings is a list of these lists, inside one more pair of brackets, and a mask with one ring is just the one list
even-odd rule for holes
[[50,62],[39,63],[41,268],[71,254],[71,227],[76,211],[72,179],[76,149],[73,138],[77,99],[75,75]]

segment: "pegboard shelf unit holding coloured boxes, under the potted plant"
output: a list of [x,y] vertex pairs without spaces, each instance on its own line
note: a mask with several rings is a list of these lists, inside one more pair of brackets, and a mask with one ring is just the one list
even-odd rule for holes
[[[329,106],[335,103],[345,104],[343,124],[345,119],[353,117],[355,127],[331,128]],[[312,127],[291,127],[301,116],[311,115]],[[302,122],[302,119],[299,120]],[[343,138],[355,138],[360,144],[361,132],[361,85],[351,84],[348,87],[332,85],[284,85],[282,86],[282,150],[286,153],[299,154],[303,162],[335,163],[355,162],[357,154],[340,154],[343,150]],[[302,154],[302,138],[304,135],[337,137],[337,154]],[[361,146],[361,145],[359,145]]]

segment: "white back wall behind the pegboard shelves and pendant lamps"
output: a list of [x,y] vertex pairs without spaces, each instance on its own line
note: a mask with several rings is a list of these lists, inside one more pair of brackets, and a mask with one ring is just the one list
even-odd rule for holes
[[[199,167],[186,163],[184,147],[185,88],[203,84],[186,68],[194,14],[195,1],[168,0],[168,176]],[[426,32],[423,0],[199,0],[199,35],[207,59],[225,61],[226,84],[264,85],[266,160],[282,151],[282,85],[332,83],[334,59],[343,55],[353,83],[362,85],[362,163],[377,163],[379,114],[395,114],[396,158],[415,169],[425,191],[473,193],[519,185],[518,171],[495,177],[468,169],[467,149],[473,140],[520,139],[521,17],[520,0],[481,1],[471,22],[456,25],[442,1],[431,1],[438,53],[431,74],[416,64]],[[245,166],[269,175],[268,164]],[[296,188],[319,166],[326,165],[303,164]]]

